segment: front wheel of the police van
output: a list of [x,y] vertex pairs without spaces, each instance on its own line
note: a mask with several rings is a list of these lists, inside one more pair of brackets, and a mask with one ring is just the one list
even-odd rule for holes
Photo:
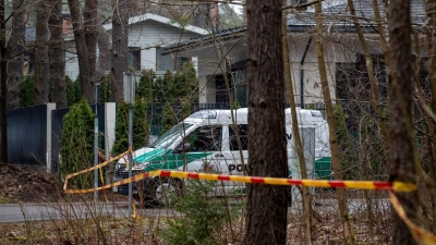
[[150,197],[155,206],[170,207],[174,197],[183,194],[183,182],[173,177],[155,177],[150,183]]

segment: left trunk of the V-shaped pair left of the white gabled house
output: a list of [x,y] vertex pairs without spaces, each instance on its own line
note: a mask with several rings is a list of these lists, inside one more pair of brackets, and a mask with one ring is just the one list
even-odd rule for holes
[[90,84],[88,51],[86,38],[81,22],[81,11],[78,0],[68,0],[71,21],[73,22],[75,48],[78,61],[78,79],[81,82],[81,93],[88,103],[94,102],[93,86]]

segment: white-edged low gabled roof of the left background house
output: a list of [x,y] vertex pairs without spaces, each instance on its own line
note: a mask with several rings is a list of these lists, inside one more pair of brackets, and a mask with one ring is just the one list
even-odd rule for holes
[[[198,27],[198,26],[194,26],[194,25],[182,26],[182,25],[180,25],[179,23],[174,22],[171,19],[165,17],[165,16],[161,16],[161,15],[157,15],[157,14],[153,14],[153,13],[145,13],[145,14],[141,14],[141,15],[136,15],[136,16],[130,17],[129,19],[129,25],[137,24],[137,23],[145,22],[145,21],[159,22],[159,23],[162,23],[162,24],[167,24],[167,25],[171,25],[171,26],[178,27],[178,28],[184,28],[186,30],[190,30],[190,32],[193,32],[193,33],[196,33],[196,34],[199,34],[199,35],[207,34],[207,29],[205,29],[205,28],[202,28],[202,27]],[[105,25],[102,25],[102,27],[106,30],[110,30],[110,29],[112,29],[112,23],[105,24]]]

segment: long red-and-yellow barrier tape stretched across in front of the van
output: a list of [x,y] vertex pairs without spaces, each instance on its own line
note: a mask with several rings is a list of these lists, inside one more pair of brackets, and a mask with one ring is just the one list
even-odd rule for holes
[[94,191],[100,191],[105,188],[111,188],[114,186],[129,184],[131,182],[132,183],[137,182],[152,176],[195,179],[195,180],[206,180],[206,181],[234,181],[234,182],[270,184],[270,185],[303,185],[303,186],[325,187],[325,188],[336,187],[336,188],[386,189],[395,192],[413,192],[416,189],[416,186],[414,184],[403,183],[403,182],[295,180],[287,177],[242,176],[242,175],[225,175],[225,174],[213,174],[213,173],[155,170],[150,172],[136,174],[130,179],[124,179],[117,183],[89,189],[66,189],[66,180],[65,180],[64,191],[66,194],[89,193]]

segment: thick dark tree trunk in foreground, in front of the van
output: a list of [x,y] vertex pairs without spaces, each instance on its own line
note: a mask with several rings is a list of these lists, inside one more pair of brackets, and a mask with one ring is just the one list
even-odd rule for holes
[[[249,175],[288,176],[282,1],[247,1]],[[286,244],[287,187],[247,184],[243,244]]]

